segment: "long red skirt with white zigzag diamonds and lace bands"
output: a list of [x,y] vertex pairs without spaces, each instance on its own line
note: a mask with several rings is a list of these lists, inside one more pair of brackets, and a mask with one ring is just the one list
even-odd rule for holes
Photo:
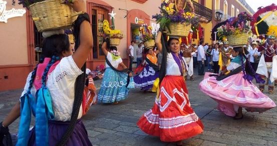
[[166,75],[152,109],[137,125],[162,141],[183,140],[203,132],[203,124],[190,106],[183,76]]

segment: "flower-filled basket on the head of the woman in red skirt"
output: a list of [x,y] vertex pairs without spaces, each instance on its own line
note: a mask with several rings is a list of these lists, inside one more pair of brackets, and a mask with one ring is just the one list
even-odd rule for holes
[[[187,1],[191,11],[184,11]],[[193,4],[190,0],[163,0],[160,14],[153,15],[153,18],[160,23],[160,27],[167,31],[167,35],[187,36],[191,24],[197,21],[194,15]]]

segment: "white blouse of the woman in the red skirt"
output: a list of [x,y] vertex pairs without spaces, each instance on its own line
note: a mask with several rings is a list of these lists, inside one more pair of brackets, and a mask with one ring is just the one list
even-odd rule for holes
[[[185,62],[186,70],[188,70],[188,66],[186,64],[186,61],[185,61],[184,57],[182,57],[182,59]],[[169,52],[167,54],[166,74],[165,75],[181,75],[179,66],[176,63],[176,61],[174,60],[173,55],[171,54],[171,52]]]

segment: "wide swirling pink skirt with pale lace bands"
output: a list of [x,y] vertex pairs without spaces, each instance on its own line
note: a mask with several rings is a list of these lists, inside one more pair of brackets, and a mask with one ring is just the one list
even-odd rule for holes
[[226,115],[235,116],[239,106],[252,112],[263,112],[276,106],[274,101],[253,83],[245,80],[242,72],[222,80],[216,80],[215,76],[209,76],[209,74],[210,72],[205,73],[199,88],[218,102],[217,108]]

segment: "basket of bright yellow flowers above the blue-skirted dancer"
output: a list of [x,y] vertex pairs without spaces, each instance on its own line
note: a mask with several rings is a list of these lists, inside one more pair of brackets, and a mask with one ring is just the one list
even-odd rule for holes
[[110,37],[111,45],[119,45],[120,40],[124,37],[120,30],[110,29],[108,20],[103,21],[103,30],[104,33]]

